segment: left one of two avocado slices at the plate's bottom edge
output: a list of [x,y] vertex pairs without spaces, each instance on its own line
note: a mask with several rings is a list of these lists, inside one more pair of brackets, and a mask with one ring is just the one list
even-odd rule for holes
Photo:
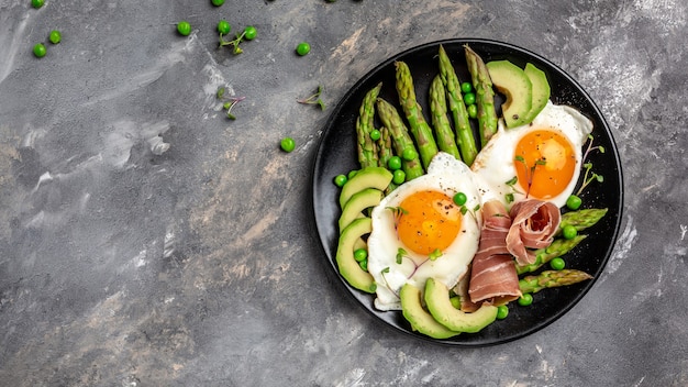
[[413,330],[433,339],[453,338],[459,332],[452,331],[423,309],[421,303],[421,290],[411,284],[406,284],[399,291],[401,298],[401,313],[411,323]]

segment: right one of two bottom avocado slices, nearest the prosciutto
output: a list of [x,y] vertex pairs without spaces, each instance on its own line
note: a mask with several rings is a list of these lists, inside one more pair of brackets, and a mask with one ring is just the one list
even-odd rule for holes
[[484,303],[471,313],[454,308],[450,300],[450,289],[434,278],[425,281],[425,305],[432,317],[452,331],[476,333],[497,319],[497,307],[491,305]]

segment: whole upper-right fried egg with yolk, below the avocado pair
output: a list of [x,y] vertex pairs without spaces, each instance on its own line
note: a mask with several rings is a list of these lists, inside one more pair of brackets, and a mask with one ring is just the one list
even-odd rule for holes
[[592,122],[578,110],[548,101],[532,123],[497,133],[471,165],[482,188],[484,202],[506,206],[525,198],[564,207],[581,169],[581,148]]

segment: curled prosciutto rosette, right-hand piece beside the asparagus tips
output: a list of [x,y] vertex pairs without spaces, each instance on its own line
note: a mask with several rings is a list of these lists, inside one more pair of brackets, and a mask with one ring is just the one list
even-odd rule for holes
[[534,263],[535,254],[529,248],[552,244],[562,221],[559,209],[548,201],[529,199],[513,204],[509,215],[513,219],[507,234],[509,253],[519,265]]

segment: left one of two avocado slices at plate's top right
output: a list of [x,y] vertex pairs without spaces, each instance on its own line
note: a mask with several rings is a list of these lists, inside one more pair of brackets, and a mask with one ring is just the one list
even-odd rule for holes
[[528,121],[532,107],[532,90],[530,78],[523,69],[509,60],[492,60],[486,64],[492,79],[492,85],[507,97],[501,106],[507,128],[520,126]]

